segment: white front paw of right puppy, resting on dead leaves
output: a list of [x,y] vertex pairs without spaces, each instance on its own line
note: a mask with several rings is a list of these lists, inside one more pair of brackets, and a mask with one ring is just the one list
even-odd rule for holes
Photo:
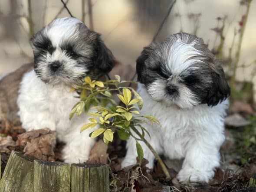
[[177,179],[181,183],[189,182],[209,182],[214,176],[214,171],[199,171],[192,167],[184,167],[177,175]]

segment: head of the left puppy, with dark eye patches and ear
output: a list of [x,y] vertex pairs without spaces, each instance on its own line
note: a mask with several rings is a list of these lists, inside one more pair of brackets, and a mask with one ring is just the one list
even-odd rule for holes
[[100,35],[75,18],[53,20],[30,42],[35,72],[46,83],[77,85],[86,75],[98,77],[113,67],[114,57]]

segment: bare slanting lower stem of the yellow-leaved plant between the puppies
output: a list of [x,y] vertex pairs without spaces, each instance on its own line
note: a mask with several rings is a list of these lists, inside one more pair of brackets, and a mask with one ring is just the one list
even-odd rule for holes
[[158,160],[158,163],[160,164],[160,166],[164,172],[164,175],[166,176],[166,179],[171,179],[171,176],[170,176],[166,166],[164,165],[164,162],[162,161],[162,159],[160,158],[158,153],[153,149],[151,144],[148,143],[148,141],[141,135],[141,133],[134,126],[131,126],[131,129],[141,138],[141,140],[148,146],[148,148],[154,154],[155,158]]

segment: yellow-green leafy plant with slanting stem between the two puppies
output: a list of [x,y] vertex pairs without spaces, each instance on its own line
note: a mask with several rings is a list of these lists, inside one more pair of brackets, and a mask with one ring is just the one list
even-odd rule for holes
[[[70,119],[74,114],[80,115],[83,110],[92,115],[93,117],[89,118],[90,123],[81,127],[81,132],[98,126],[99,128],[92,131],[89,136],[95,138],[103,134],[105,144],[113,141],[115,131],[117,131],[121,140],[128,140],[133,137],[136,140],[139,163],[142,162],[144,154],[138,141],[143,141],[160,163],[166,177],[170,179],[163,161],[144,138],[145,134],[149,135],[148,131],[141,126],[141,123],[149,122],[161,126],[160,122],[151,115],[140,115],[143,100],[133,88],[121,86],[127,82],[131,81],[121,81],[118,75],[115,75],[115,79],[105,82],[85,77],[82,85],[72,88],[72,90],[81,91],[81,94],[80,101],[72,108]],[[115,94],[121,102],[120,105],[113,100]],[[132,94],[134,95],[133,99]],[[135,104],[137,104],[138,108],[134,106]],[[89,109],[93,112],[88,112]]]

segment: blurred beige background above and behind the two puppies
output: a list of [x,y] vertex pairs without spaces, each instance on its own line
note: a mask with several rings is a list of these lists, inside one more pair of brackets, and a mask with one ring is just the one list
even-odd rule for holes
[[[102,34],[119,62],[135,67],[135,60],[152,41],[172,0],[64,2],[73,16]],[[255,0],[177,0],[158,41],[180,31],[203,38],[224,60],[231,87],[238,87],[237,92],[249,87],[255,94],[255,10]],[[61,0],[0,0],[0,75],[33,61],[30,37],[54,18],[66,16],[69,13]],[[251,93],[245,97],[253,100]]]

